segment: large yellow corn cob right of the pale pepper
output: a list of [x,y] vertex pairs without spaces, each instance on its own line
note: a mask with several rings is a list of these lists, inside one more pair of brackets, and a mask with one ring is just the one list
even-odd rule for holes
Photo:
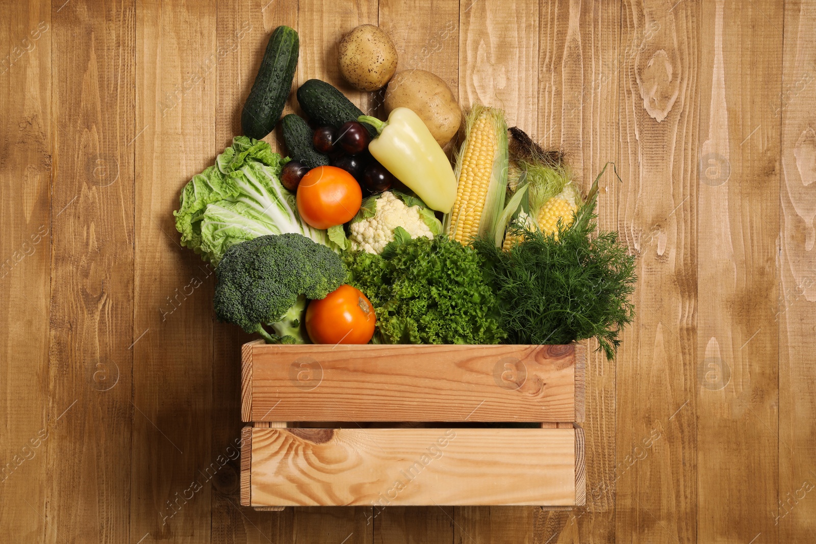
[[495,108],[475,104],[456,161],[456,200],[446,216],[448,236],[462,245],[491,235],[504,207],[508,183],[508,126]]

